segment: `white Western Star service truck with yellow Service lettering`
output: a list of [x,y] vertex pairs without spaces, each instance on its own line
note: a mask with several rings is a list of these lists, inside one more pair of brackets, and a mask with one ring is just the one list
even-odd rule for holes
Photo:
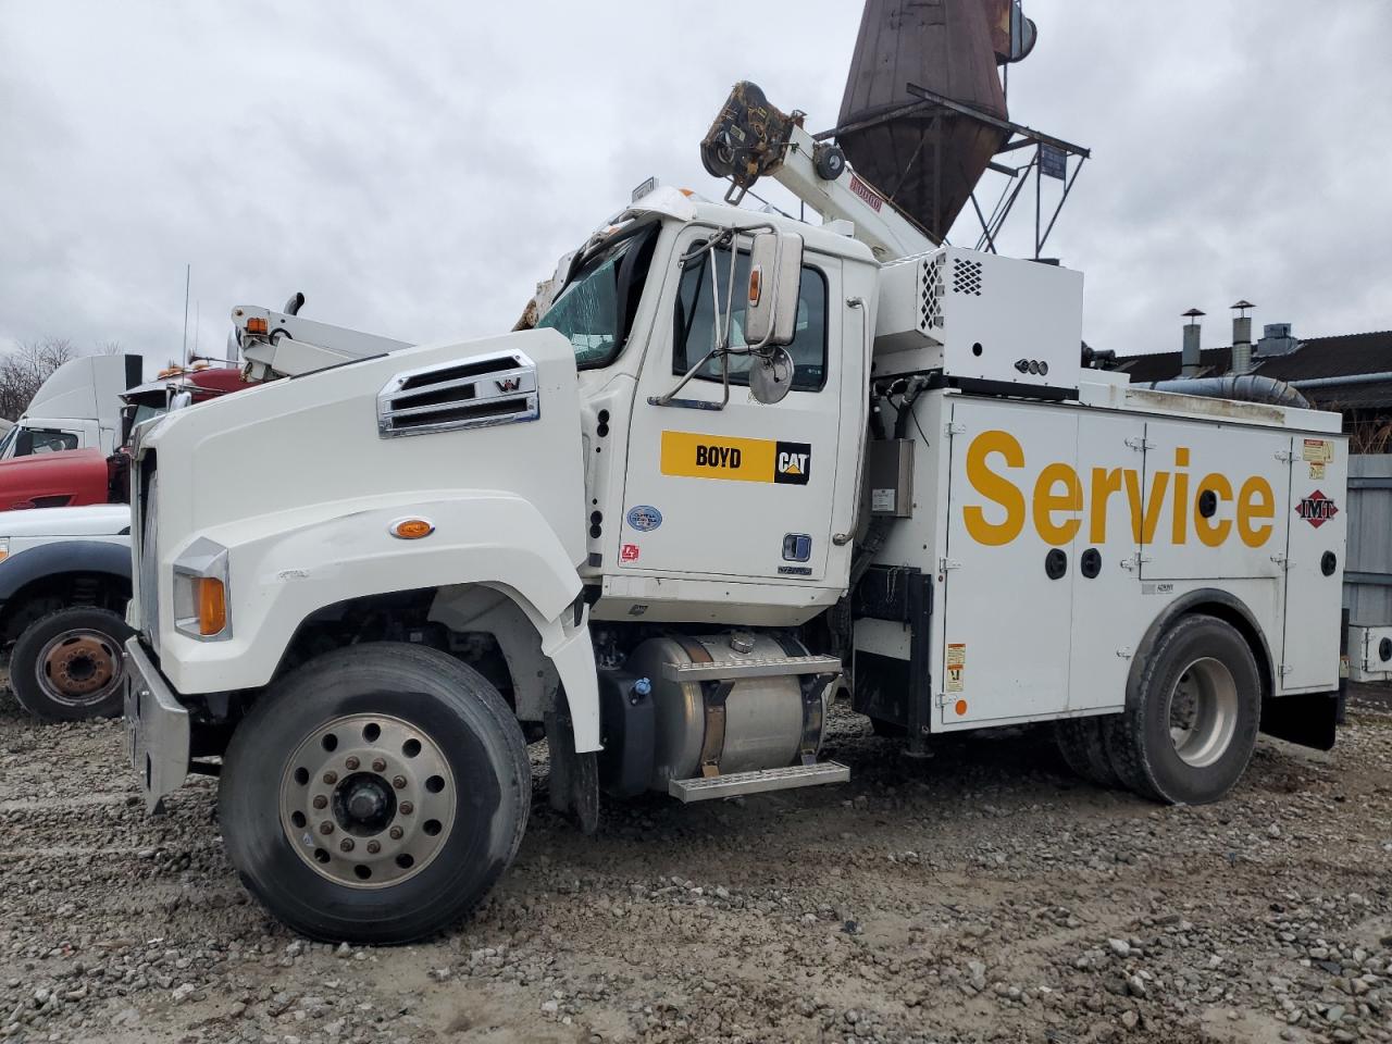
[[220,771],[296,931],[462,916],[541,735],[585,828],[601,791],[845,780],[839,692],[919,753],[1057,722],[1164,802],[1221,798],[1258,728],[1332,745],[1336,415],[1083,367],[1079,273],[933,244],[748,86],[703,148],[825,223],[651,188],[539,329],[470,342],[238,309],[248,367],[303,376],[138,430],[132,761],[152,810]]

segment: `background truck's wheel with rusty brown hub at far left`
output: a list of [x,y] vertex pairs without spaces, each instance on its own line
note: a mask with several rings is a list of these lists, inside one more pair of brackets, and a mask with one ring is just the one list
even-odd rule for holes
[[10,689],[26,711],[47,721],[114,718],[131,633],[116,612],[92,606],[40,617],[10,653]]

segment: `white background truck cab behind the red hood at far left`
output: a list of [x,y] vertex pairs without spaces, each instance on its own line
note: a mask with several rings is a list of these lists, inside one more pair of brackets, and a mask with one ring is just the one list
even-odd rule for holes
[[121,393],[142,380],[139,355],[84,355],[56,369],[0,440],[0,462],[15,457],[121,444]]

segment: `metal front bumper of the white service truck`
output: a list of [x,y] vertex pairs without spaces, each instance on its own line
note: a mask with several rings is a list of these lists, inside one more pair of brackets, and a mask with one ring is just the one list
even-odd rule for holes
[[139,636],[125,642],[125,749],[141,781],[145,812],[161,812],[164,795],[188,778],[188,711],[150,663]]

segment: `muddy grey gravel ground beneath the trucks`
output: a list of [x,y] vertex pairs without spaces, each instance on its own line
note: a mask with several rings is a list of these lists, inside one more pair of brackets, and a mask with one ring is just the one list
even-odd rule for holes
[[354,949],[248,899],[212,781],[148,820],[118,722],[3,697],[0,1038],[1392,1041],[1388,692],[1197,809],[1080,784],[1038,731],[913,763],[834,724],[848,786],[610,806],[593,839],[539,761],[473,920]]

